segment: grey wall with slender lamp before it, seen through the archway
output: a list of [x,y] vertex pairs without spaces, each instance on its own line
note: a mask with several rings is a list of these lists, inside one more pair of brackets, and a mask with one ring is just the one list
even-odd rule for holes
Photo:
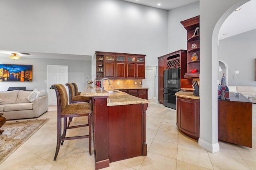
[[256,86],[255,64],[256,59],[256,29],[228,37],[219,41],[219,59],[228,66],[228,86],[232,86],[234,70],[234,86]]

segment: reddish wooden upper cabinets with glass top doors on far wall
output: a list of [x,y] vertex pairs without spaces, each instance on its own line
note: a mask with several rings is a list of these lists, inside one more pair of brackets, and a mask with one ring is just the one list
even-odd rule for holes
[[[145,79],[145,56],[127,53],[111,53],[96,51],[97,79],[129,78]],[[102,58],[101,58],[102,57]],[[98,58],[103,60],[103,66]],[[102,69],[101,69],[102,67]]]

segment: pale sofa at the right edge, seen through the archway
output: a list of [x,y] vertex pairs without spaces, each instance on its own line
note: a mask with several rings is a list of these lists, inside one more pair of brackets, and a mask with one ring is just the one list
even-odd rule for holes
[[[252,103],[256,103],[256,86],[228,86],[229,92],[239,92],[245,97],[253,96]],[[248,98],[251,100],[251,98]]]

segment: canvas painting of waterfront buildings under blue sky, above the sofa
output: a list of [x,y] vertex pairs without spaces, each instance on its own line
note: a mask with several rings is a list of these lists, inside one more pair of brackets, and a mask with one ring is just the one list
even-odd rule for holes
[[32,82],[32,65],[0,64],[0,82]]

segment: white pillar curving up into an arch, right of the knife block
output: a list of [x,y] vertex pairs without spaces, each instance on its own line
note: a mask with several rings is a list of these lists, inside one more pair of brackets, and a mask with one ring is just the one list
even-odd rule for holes
[[200,139],[198,144],[219,151],[218,33],[224,20],[248,0],[200,0]]

